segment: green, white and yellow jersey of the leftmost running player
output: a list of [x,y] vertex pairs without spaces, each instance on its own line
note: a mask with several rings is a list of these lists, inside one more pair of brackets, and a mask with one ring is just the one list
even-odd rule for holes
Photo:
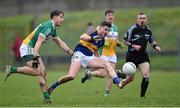
[[45,38],[45,40],[48,40],[52,37],[56,37],[56,29],[54,27],[53,21],[49,20],[45,23],[40,24],[33,32],[31,32],[24,40],[23,44],[31,46],[34,48],[38,36],[41,35]]

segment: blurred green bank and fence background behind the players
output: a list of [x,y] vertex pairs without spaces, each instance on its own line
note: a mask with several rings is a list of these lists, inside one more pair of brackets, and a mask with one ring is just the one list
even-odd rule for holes
[[[151,69],[180,70],[180,1],[179,0],[0,0],[0,67],[17,64],[15,49],[36,26],[49,20],[53,9],[65,13],[63,26],[57,28],[60,38],[71,48],[79,41],[87,23],[97,26],[104,20],[104,12],[113,9],[119,39],[136,22],[136,15],[144,12],[149,18],[156,41],[162,48],[160,55],[148,47]],[[20,37],[20,38],[18,38]],[[119,68],[125,61],[124,49],[117,48]],[[47,69],[67,68],[70,57],[52,40],[40,49]],[[21,65],[21,63],[17,64]]]

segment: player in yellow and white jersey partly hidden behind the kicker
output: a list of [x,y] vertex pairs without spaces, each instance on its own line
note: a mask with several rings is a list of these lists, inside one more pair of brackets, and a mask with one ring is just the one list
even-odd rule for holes
[[[121,42],[118,40],[118,29],[115,26],[114,22],[115,18],[115,13],[113,10],[107,10],[105,12],[105,20],[109,23],[111,23],[111,28],[108,33],[108,35],[105,37],[105,44],[102,48],[102,54],[101,58],[104,60],[107,60],[111,63],[113,68],[116,68],[116,62],[117,62],[117,56],[116,56],[116,47],[123,45]],[[85,76],[82,78],[81,82],[84,83],[87,79],[88,76],[95,76],[95,77],[102,77],[102,76],[107,76],[106,73],[101,72],[101,71],[87,71]],[[105,87],[105,92],[104,96],[107,96],[110,93],[110,90],[112,88],[113,81],[111,78],[108,77],[108,81]]]

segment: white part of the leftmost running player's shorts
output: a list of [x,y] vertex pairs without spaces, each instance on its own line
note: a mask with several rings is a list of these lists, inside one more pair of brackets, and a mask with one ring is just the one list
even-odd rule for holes
[[33,55],[33,48],[29,45],[24,45],[22,44],[20,46],[20,54],[21,54],[21,57],[23,56],[26,56],[26,55]]

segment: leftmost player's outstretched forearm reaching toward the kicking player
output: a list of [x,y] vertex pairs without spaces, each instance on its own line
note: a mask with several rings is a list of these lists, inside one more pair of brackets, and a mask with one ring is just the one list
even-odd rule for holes
[[73,50],[71,50],[65,42],[63,42],[59,37],[53,38],[54,42],[66,53],[69,55],[73,54]]

